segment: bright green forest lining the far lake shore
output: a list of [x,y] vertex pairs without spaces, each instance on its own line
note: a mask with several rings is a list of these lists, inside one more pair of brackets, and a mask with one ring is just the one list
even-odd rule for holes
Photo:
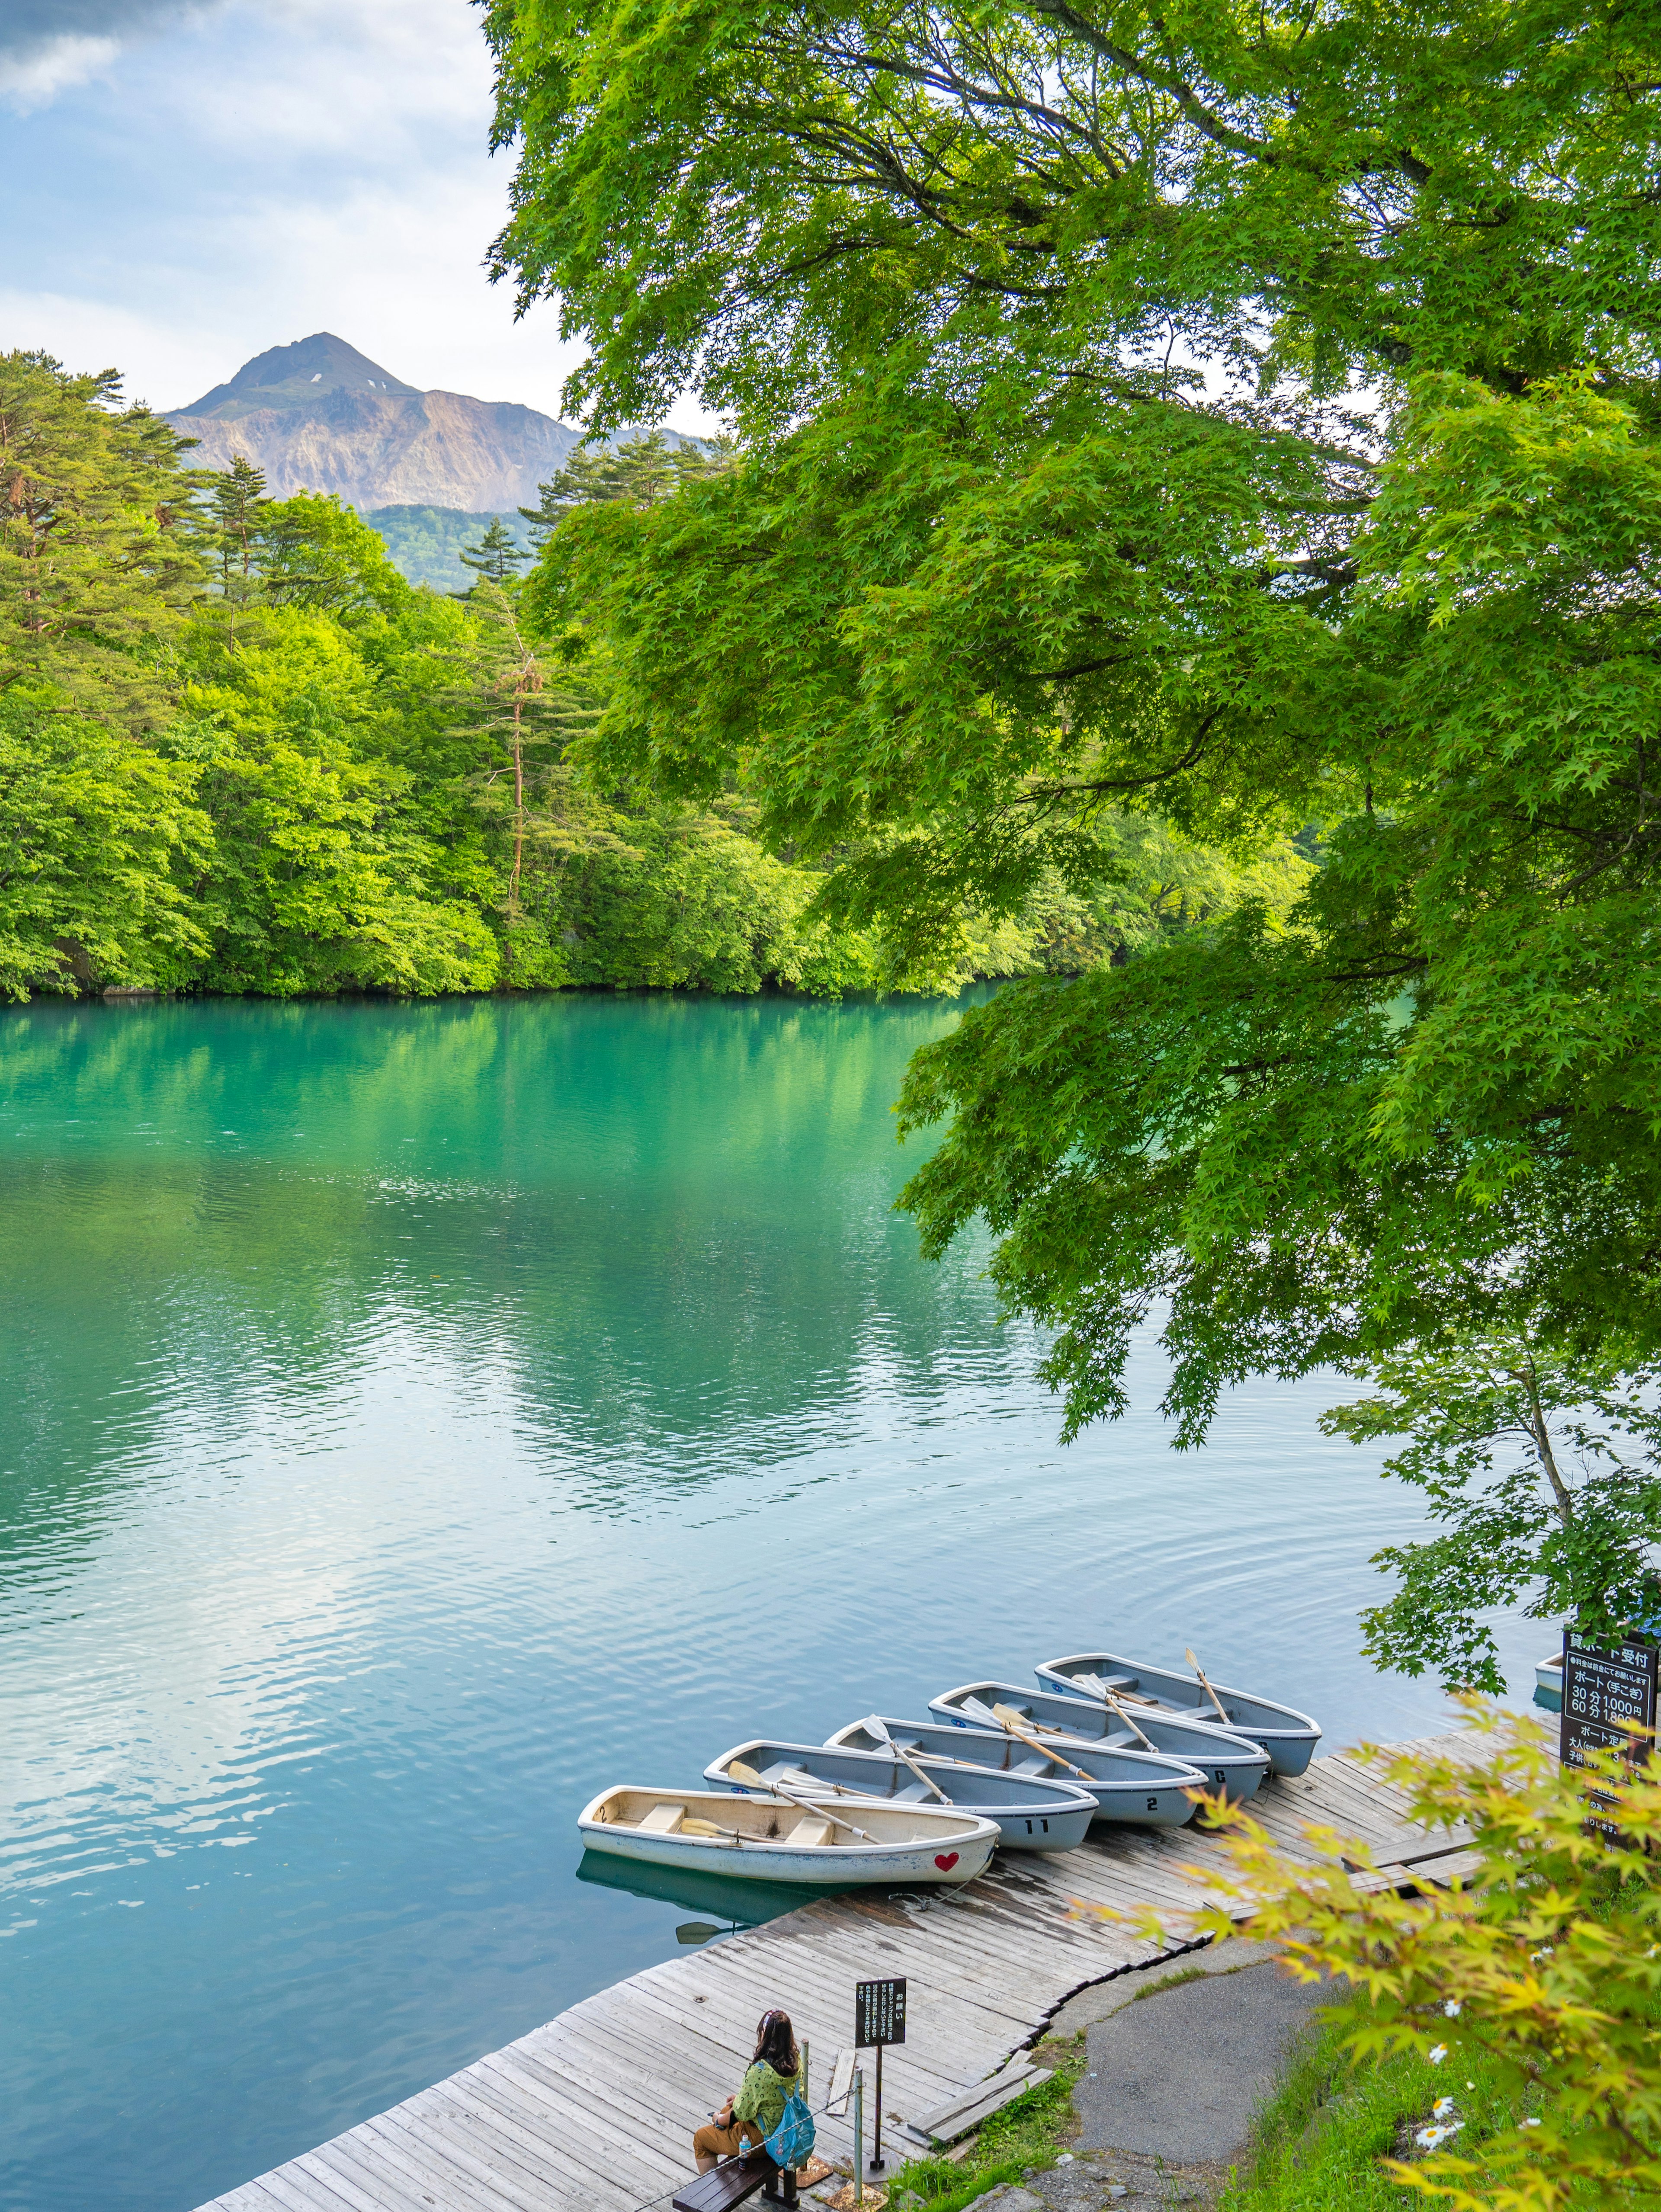
[[[670,500],[661,438],[579,453],[522,529]],[[1146,821],[1086,896],[1059,878],[896,956],[821,911],[825,860],[595,763],[610,655],[520,577],[500,518],[464,595],[405,582],[332,498],[190,467],[115,374],[0,363],[0,991],[223,993],[936,989],[1124,958],[1243,889],[1245,865]],[[467,571],[464,571],[467,573]]]

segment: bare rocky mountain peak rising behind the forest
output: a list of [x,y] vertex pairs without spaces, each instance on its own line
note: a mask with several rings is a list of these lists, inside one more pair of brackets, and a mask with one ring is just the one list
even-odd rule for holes
[[274,345],[168,422],[190,456],[228,469],[246,453],[274,498],[336,491],[369,507],[535,507],[582,431],[513,400],[418,392],[330,332]]

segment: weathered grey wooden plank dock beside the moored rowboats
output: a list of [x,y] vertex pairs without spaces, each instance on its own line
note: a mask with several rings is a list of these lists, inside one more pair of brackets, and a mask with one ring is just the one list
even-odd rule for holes
[[[1449,1840],[1409,1827],[1402,1803],[1345,1752],[1270,1783],[1252,1812],[1292,1851],[1305,1823],[1323,1823],[1371,1845],[1380,1867],[1453,1869]],[[852,2042],[854,1984],[876,1975],[909,1982],[885,2106],[896,2121],[929,2112],[1002,2068],[1079,1989],[1190,1949],[1181,1913],[1197,1887],[1181,1869],[1221,1863],[1216,1843],[1197,1829],[1097,1834],[1077,1851],[1002,1854],[962,1889],[825,1898],[648,1966],[201,2212],[666,2205],[692,2172],[692,2130],[739,2084],[761,2013],[783,2006],[812,2044],[818,2106]],[[1152,1905],[1172,1929],[1143,1942],[1082,1918],[1079,1905]],[[821,2119],[818,2148],[849,2159],[852,2119]]]

